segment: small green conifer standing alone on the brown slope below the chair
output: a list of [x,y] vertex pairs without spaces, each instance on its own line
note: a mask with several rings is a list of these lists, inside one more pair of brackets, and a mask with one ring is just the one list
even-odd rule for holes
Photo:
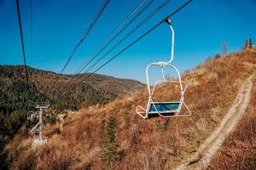
[[118,161],[119,155],[117,153],[118,144],[116,141],[116,120],[113,116],[109,116],[106,129],[106,138],[102,149],[102,161],[107,167],[113,167],[113,164]]

